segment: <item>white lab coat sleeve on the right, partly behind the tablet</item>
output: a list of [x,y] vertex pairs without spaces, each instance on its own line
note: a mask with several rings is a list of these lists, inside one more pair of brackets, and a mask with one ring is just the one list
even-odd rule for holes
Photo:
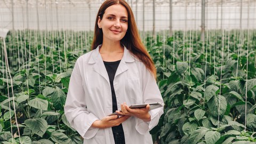
[[[151,75],[145,65],[141,67],[141,71],[143,103],[163,102],[161,92],[158,89],[154,76]],[[151,121],[149,122],[145,122],[142,119],[137,118],[135,126],[136,130],[140,134],[146,134],[158,124],[159,118],[163,113],[163,107],[161,107],[149,111],[151,118]]]

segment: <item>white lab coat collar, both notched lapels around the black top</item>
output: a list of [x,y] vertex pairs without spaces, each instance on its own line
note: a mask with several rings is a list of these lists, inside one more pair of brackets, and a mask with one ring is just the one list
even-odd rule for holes
[[[104,77],[109,83],[108,73],[99,52],[100,47],[101,45],[99,45],[95,50],[92,51],[92,55],[88,63],[93,64],[93,69],[97,73],[99,73],[102,77]],[[126,62],[134,62],[134,61],[135,61],[134,57],[131,55],[129,50],[127,50],[126,47],[124,46],[124,55],[116,70],[115,77],[119,74],[122,74],[124,71],[128,70],[128,67],[126,66]]]

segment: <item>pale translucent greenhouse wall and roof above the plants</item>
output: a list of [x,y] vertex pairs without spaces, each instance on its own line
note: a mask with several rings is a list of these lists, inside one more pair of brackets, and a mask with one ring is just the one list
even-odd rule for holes
[[[0,27],[7,29],[73,29],[93,30],[94,19],[103,0],[2,0]],[[141,31],[202,29],[240,29],[247,23],[250,8],[250,28],[256,27],[256,0],[127,0]],[[224,11],[225,9],[225,11]],[[225,13],[225,14],[223,14]],[[51,25],[50,25],[51,22]],[[23,23],[25,26],[23,26]],[[242,26],[243,25],[243,26]]]

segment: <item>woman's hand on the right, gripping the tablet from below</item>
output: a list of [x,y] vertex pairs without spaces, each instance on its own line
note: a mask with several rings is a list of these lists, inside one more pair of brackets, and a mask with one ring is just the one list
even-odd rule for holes
[[123,104],[121,104],[121,111],[116,110],[116,113],[118,115],[135,116],[142,119],[143,121],[148,122],[151,120],[150,115],[148,113],[149,107],[150,106],[147,105],[145,108],[129,108],[129,106],[127,106],[124,102]]

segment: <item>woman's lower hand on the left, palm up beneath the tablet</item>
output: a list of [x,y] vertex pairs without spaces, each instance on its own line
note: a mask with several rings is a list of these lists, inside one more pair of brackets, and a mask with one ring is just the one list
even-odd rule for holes
[[101,120],[97,120],[92,123],[92,127],[99,128],[99,129],[106,129],[108,127],[118,126],[130,116],[122,116],[118,118],[118,115],[113,116],[106,116],[103,117]]

